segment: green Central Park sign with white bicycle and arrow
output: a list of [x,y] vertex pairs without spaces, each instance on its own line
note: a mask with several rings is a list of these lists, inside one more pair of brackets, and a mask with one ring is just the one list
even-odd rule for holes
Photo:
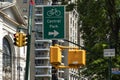
[[65,36],[65,7],[43,7],[43,37],[44,39],[63,39]]

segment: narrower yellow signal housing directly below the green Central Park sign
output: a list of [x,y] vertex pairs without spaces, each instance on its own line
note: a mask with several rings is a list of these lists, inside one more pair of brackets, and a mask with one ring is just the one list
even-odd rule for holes
[[62,60],[61,49],[58,46],[50,47],[50,63],[52,65],[60,65]]

